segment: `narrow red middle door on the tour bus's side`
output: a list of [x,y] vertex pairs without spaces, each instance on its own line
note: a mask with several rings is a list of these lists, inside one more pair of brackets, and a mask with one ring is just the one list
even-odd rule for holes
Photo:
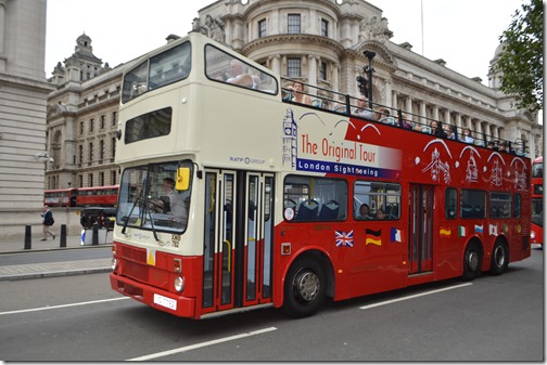
[[430,185],[410,185],[408,273],[433,270],[433,197]]

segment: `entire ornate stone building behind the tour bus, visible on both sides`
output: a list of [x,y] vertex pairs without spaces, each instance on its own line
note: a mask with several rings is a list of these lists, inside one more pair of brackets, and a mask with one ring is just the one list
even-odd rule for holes
[[[512,99],[496,88],[498,75],[489,75],[486,87],[443,60],[412,52],[408,43],[391,42],[382,11],[364,0],[219,0],[199,12],[192,28],[283,77],[356,96],[356,78],[369,63],[364,52],[376,52],[374,103],[493,138],[525,140],[531,157],[543,154],[537,115],[511,107]],[[54,162],[48,164],[46,188],[118,182],[113,161],[120,82],[132,65],[103,67],[86,35],[64,66],[58,64],[50,79],[56,90],[48,99],[48,153]]]

